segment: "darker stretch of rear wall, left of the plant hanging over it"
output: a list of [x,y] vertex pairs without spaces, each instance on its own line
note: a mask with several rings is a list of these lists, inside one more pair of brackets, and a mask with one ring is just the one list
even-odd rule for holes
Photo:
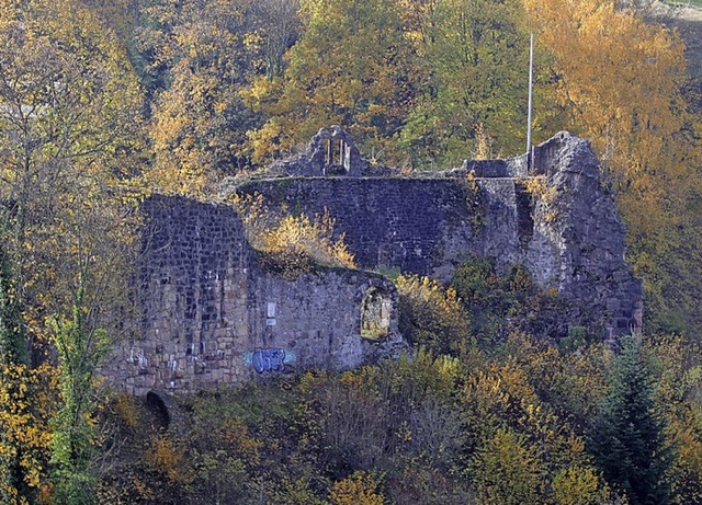
[[361,268],[430,273],[477,245],[473,195],[456,181],[309,177],[241,187],[308,216],[327,210]]

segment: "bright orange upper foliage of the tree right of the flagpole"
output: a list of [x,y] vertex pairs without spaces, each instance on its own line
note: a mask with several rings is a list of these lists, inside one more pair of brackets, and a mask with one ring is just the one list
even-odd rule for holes
[[611,0],[524,4],[555,57],[554,91],[569,127],[592,140],[616,190],[663,205],[669,185],[690,173],[677,160],[690,149],[678,136],[686,120],[678,36]]

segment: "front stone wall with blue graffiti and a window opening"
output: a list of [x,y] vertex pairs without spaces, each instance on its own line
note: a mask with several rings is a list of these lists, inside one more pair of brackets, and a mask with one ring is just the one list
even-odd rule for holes
[[[114,387],[193,392],[355,367],[404,346],[385,277],[319,268],[285,279],[260,267],[228,206],[152,197],[143,210],[140,338],[122,343],[102,370]],[[386,312],[373,338],[361,336],[370,292]]]

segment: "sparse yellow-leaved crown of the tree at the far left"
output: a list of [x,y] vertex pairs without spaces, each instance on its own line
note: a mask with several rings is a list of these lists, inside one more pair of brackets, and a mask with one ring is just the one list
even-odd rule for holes
[[[69,232],[69,221],[86,209],[125,215],[121,195],[136,171],[140,94],[116,38],[71,1],[13,3],[0,13],[0,38],[5,245],[15,253],[16,295],[36,344],[49,313],[70,313],[79,271],[102,266],[97,257],[73,262],[70,248],[71,239],[92,233],[94,243],[105,230]],[[92,288],[86,284],[88,299]]]

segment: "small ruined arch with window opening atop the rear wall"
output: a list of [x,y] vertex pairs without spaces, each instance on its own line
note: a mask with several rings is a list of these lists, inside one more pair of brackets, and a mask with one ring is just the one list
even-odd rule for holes
[[317,131],[307,146],[305,157],[309,162],[309,175],[360,177],[365,164],[351,136],[336,125]]

